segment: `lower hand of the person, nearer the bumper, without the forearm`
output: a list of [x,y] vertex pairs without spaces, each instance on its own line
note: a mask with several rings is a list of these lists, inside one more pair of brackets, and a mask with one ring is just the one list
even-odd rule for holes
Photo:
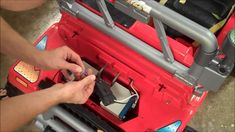
[[70,81],[56,84],[53,87],[59,91],[59,103],[84,104],[92,94],[95,86],[95,75],[88,70],[88,76],[80,81]]

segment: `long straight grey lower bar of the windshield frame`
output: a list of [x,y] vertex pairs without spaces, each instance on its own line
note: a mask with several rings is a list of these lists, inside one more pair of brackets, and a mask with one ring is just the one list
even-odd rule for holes
[[129,48],[145,56],[147,59],[149,59],[153,63],[160,65],[160,67],[163,67],[168,72],[175,74],[176,71],[183,72],[183,71],[188,70],[186,66],[182,65],[181,63],[177,61],[173,62],[172,64],[169,64],[167,61],[165,61],[163,54],[160,51],[149,46],[147,43],[129,34],[128,32],[122,30],[121,28],[117,26],[113,28],[106,26],[105,21],[103,20],[102,17],[97,16],[96,14],[92,13],[91,11],[79,5],[78,3],[74,2],[72,5],[68,5],[69,3],[66,1],[67,0],[60,1],[61,2],[60,7],[62,9],[69,11],[69,13],[71,13],[72,15],[76,14],[76,17],[86,21],[87,23],[91,24],[95,28],[112,36],[113,38],[122,42],[124,45],[128,46]]

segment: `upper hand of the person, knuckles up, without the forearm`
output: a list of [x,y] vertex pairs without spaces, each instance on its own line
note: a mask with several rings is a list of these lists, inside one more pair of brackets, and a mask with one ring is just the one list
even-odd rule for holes
[[74,74],[79,74],[85,69],[80,56],[67,46],[42,51],[37,63],[43,69],[66,69]]

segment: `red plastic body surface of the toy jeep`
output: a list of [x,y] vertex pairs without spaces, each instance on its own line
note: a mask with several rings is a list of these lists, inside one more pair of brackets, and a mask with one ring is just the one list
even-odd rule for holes
[[[152,47],[161,50],[159,40],[151,26],[137,21],[132,27],[125,30]],[[78,35],[74,36],[74,32]],[[125,131],[157,130],[177,120],[182,121],[182,125],[178,129],[178,131],[182,131],[207,95],[204,93],[201,98],[191,100],[192,88],[117,40],[66,13],[62,13],[61,21],[51,26],[35,44],[45,35],[49,36],[47,50],[67,45],[84,60],[96,64],[97,69],[106,63],[109,64],[106,72],[112,76],[120,72],[118,82],[121,84],[128,85],[129,78],[134,80],[134,87],[138,91],[140,99],[134,112],[137,116],[128,121],[119,120],[91,100],[86,103],[105,120]],[[223,36],[219,36],[219,40],[222,38]],[[190,66],[193,62],[193,48],[170,37],[168,40],[175,59]],[[40,70],[39,80],[35,83],[29,83],[14,71],[14,66],[9,70],[9,82],[24,93],[36,91],[40,80],[46,77],[54,79],[55,82],[60,81],[59,76],[55,76],[58,71]],[[19,84],[15,80],[16,77],[26,82],[28,87],[25,88]],[[164,85],[166,88],[159,91],[160,85]]]

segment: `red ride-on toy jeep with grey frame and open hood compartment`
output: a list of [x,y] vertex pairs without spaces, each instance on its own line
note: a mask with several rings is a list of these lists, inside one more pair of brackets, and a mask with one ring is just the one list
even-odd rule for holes
[[[188,14],[178,8],[169,9],[177,3],[165,7],[151,0],[58,0],[58,4],[61,20],[35,46],[73,49],[97,70],[98,90],[84,105],[60,104],[39,115],[36,125],[42,130],[187,131],[207,92],[216,91],[233,69],[233,2],[217,31],[182,16]],[[42,70],[19,60],[9,70],[6,88],[15,96],[62,80],[58,70]],[[110,102],[100,89],[111,89],[112,97],[126,100]],[[125,93],[117,95],[117,89]]]

